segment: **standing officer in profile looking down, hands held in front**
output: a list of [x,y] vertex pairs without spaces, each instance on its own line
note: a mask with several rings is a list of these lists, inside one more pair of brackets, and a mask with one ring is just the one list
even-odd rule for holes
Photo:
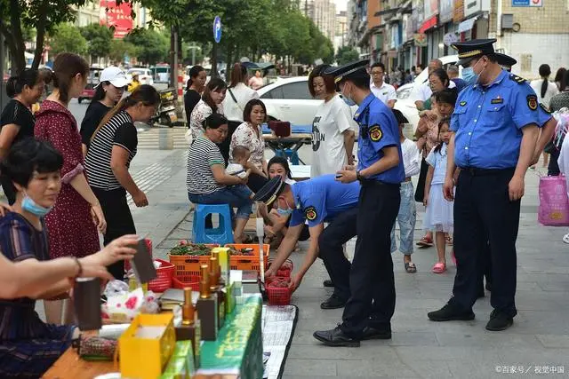
[[391,226],[399,210],[399,184],[405,180],[399,130],[389,107],[373,96],[362,60],[330,71],[337,89],[359,106],[358,165],[338,173],[342,183],[359,181],[357,242],[349,274],[351,296],[342,323],[314,337],[330,346],[359,346],[365,339],[391,338],[395,282],[390,253]]

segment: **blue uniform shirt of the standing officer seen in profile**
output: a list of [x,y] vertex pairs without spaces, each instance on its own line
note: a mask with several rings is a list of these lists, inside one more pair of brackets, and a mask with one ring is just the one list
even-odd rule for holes
[[354,120],[359,124],[357,138],[357,170],[364,170],[383,157],[384,147],[397,146],[399,164],[368,179],[399,184],[405,180],[403,154],[399,141],[399,125],[395,115],[373,93],[357,108]]

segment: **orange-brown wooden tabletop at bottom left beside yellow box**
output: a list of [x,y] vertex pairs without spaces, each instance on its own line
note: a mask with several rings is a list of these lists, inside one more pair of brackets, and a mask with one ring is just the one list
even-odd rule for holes
[[73,348],[68,348],[53,366],[42,376],[43,379],[92,379],[97,375],[118,372],[111,361],[89,361],[79,358]]

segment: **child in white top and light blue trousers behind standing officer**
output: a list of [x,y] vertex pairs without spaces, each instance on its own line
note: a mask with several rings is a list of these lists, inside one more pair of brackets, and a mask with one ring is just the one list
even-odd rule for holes
[[[415,206],[414,189],[411,177],[419,174],[421,170],[421,154],[416,143],[411,139],[405,138],[403,128],[409,123],[400,111],[393,109],[393,114],[399,124],[399,140],[403,153],[403,165],[405,167],[405,180],[401,183],[399,192],[401,193],[401,204],[397,213],[399,223],[399,251],[403,254],[403,265],[405,272],[417,272],[417,267],[411,261],[413,254],[413,234],[415,232],[415,222],[417,220],[417,208]],[[391,252],[397,250],[395,238],[395,223],[391,228]]]

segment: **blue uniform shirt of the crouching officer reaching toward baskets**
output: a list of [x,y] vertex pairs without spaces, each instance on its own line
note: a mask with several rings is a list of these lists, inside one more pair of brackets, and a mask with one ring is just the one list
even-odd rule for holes
[[309,222],[309,227],[325,222],[344,210],[357,207],[359,182],[347,185],[337,181],[334,175],[298,182],[291,186],[296,209],[290,226]]

